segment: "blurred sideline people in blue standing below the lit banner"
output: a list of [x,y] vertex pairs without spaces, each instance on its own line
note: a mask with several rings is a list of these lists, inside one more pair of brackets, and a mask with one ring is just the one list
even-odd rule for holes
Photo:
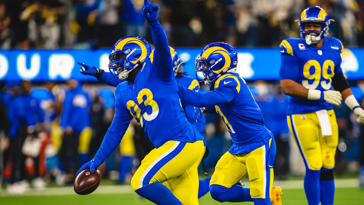
[[[286,124],[288,97],[279,82],[248,82],[262,110],[265,125],[277,144],[275,178],[304,174],[303,162]],[[1,82],[0,176],[9,193],[24,193],[29,184],[43,190],[46,182],[72,184],[75,173],[94,156],[114,116],[114,90],[101,84],[83,84],[73,79],[65,83],[29,81]],[[363,100],[364,81],[352,86],[358,101]],[[202,86],[202,89],[207,87]],[[342,105],[335,108],[339,125],[336,154],[337,175],[355,173],[363,163],[360,135],[364,128]],[[210,154],[204,160],[209,172],[232,141],[221,117],[206,117],[206,140]],[[363,146],[363,141],[361,143]],[[128,183],[140,161],[153,149],[143,129],[134,121],[122,142],[99,167],[103,178]],[[363,149],[362,147],[361,149]],[[363,160],[363,159],[361,159]],[[200,167],[201,168],[201,167]],[[202,170],[201,170],[202,171]]]

